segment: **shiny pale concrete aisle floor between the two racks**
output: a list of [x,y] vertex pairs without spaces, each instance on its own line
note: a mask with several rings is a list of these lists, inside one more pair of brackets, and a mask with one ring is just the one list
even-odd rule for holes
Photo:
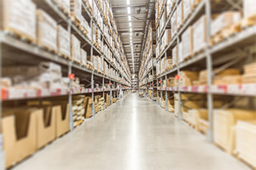
[[130,94],[15,170],[250,169],[149,99]]

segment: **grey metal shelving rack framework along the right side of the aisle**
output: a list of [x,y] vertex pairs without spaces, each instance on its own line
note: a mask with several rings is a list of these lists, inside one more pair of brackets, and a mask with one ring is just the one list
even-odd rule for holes
[[[168,26],[172,15],[174,11],[177,9],[178,3],[180,3],[181,0],[177,0],[176,4],[172,8],[171,14],[168,18],[166,18],[166,24],[163,27],[163,30],[160,32],[160,35],[157,39],[157,43],[160,42],[160,38],[163,36],[163,32],[166,29],[166,26]],[[212,95],[213,94],[222,94],[222,95],[242,95],[242,96],[256,96],[256,84],[232,84],[232,85],[213,85],[212,84],[212,78],[213,78],[213,62],[212,59],[215,58],[218,54],[224,54],[227,52],[226,49],[230,48],[240,48],[247,46],[247,42],[254,43],[256,42],[256,26],[248,27],[247,29],[237,33],[233,37],[229,37],[228,39],[224,40],[223,42],[219,42],[218,44],[214,46],[210,46],[209,38],[211,36],[211,14],[212,14],[212,2],[210,0],[201,0],[201,3],[199,3],[196,8],[193,9],[191,14],[189,15],[188,20],[185,20],[183,22],[182,27],[177,31],[177,34],[172,37],[171,42],[169,42],[166,46],[166,48],[163,50],[163,52],[157,56],[157,61],[159,61],[162,57],[166,57],[166,52],[168,50],[172,50],[172,48],[179,44],[180,37],[185,31],[188,26],[190,26],[196,18],[198,18],[201,14],[206,14],[207,16],[207,47],[205,50],[203,50],[200,54],[196,54],[195,56],[192,56],[190,59],[187,59],[181,63],[178,63],[177,66],[172,67],[171,70],[163,72],[160,74],[160,76],[157,77],[157,94],[160,92],[160,98],[163,97],[163,92],[166,92],[166,104],[167,104],[167,92],[177,93],[178,94],[178,101],[179,101],[179,107],[178,107],[178,113],[177,113],[177,119],[182,120],[182,114],[181,114],[181,93],[195,93],[195,94],[207,94],[207,110],[208,110],[208,117],[209,117],[209,129],[207,132],[207,140],[209,142],[213,142],[213,136],[212,136],[212,117],[213,117],[213,101],[212,101]],[[166,5],[163,8],[163,10],[160,12],[160,14],[163,14],[163,11],[166,10]],[[159,26],[159,23],[156,27]],[[254,48],[255,50],[255,48]],[[178,49],[177,49],[178,51]],[[230,51],[229,51],[230,52]],[[238,52],[236,52],[238,53]],[[239,54],[239,53],[238,53]],[[177,53],[177,60],[178,60],[178,53]],[[207,85],[203,86],[196,86],[196,87],[180,87],[180,81],[178,80],[178,87],[171,87],[171,88],[163,88],[162,83],[159,84],[159,81],[163,82],[163,80],[167,80],[167,76],[179,75],[179,72],[181,69],[184,69],[188,66],[195,65],[195,63],[206,60],[206,68],[207,68]],[[231,60],[231,59],[230,59]],[[159,97],[159,96],[158,96]],[[159,104],[158,100],[157,103]]]

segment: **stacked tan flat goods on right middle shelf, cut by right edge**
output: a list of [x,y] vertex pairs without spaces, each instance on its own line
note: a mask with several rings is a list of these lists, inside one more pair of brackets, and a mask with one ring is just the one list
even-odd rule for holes
[[256,83],[256,63],[244,65],[242,83]]

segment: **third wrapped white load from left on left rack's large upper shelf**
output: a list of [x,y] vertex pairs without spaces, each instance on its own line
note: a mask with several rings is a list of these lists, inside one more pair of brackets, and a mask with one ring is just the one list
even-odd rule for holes
[[62,26],[58,26],[57,30],[57,52],[70,59],[70,34]]

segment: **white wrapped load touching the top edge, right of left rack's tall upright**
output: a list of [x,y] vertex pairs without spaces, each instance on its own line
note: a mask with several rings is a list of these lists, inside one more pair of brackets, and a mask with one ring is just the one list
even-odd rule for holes
[[82,0],[70,0],[71,19],[77,24],[82,22]]

